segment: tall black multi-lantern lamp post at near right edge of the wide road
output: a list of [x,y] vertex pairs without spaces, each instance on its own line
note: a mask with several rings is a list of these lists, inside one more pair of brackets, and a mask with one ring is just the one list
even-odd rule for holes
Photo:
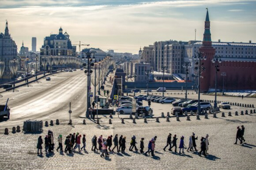
[[[93,72],[93,70],[91,70],[91,66],[94,66],[94,63],[91,63],[92,61],[92,58],[91,58],[91,54],[94,53],[94,52],[85,52],[84,54],[86,55],[86,58],[87,58],[87,70],[85,70],[85,74],[87,74],[87,111],[86,111],[86,117],[90,117],[90,105],[91,105],[91,102],[90,102],[90,95],[89,95],[89,92],[91,90],[91,81],[90,81],[90,76],[91,76],[91,73]],[[84,60],[85,57],[84,55],[82,56],[82,60]]]

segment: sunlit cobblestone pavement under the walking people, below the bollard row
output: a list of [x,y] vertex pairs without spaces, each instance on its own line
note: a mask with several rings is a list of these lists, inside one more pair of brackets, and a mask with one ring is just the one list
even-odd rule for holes
[[[55,146],[57,146],[57,135],[65,137],[69,133],[80,132],[87,135],[87,151],[74,152],[74,154],[62,154],[54,151],[54,154],[37,155],[37,138],[39,134],[23,134],[22,132],[9,135],[0,135],[0,169],[255,169],[256,167],[256,114],[238,115],[232,117],[208,119],[201,116],[201,120],[191,117],[187,121],[185,117],[160,118],[160,123],[155,119],[138,119],[137,123],[126,119],[121,124],[118,117],[113,118],[113,123],[108,124],[108,118],[102,118],[100,124],[87,120],[82,124],[82,119],[73,120],[73,126],[67,125],[67,121],[61,121],[60,125],[44,127],[43,137],[48,129],[54,132]],[[233,144],[235,142],[236,126],[246,127],[244,137],[246,144]],[[188,146],[189,135],[194,132],[198,138],[209,135],[209,155],[207,158],[199,157],[196,152],[187,152],[179,155],[174,152],[165,152],[163,147],[169,133],[185,137],[185,145]],[[100,152],[91,151],[91,138],[93,135],[121,135],[127,137],[126,154],[110,154],[109,158],[101,158]],[[128,151],[130,138],[137,137],[137,146],[141,137],[145,138],[144,145],[157,135],[155,145],[155,157],[145,156],[137,152]],[[197,146],[200,146],[197,140]],[[179,140],[177,141],[179,146]],[[199,149],[199,148],[198,148]],[[146,148],[144,149],[144,151]]]

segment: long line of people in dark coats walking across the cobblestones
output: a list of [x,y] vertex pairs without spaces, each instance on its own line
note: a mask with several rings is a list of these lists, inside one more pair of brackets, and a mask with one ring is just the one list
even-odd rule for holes
[[[241,130],[241,129],[240,129]],[[208,154],[208,137],[209,135],[207,134],[205,137],[201,138],[201,151],[197,152],[197,145],[196,145],[196,140],[197,137],[194,134],[194,132],[192,133],[192,135],[189,137],[189,143],[188,143],[188,148],[185,146],[184,143],[184,138],[183,136],[180,137],[180,143],[179,143],[179,154],[184,154],[184,149],[187,148],[187,152],[192,152],[192,151],[196,151],[198,153],[198,155],[201,156],[201,154],[203,154],[205,157]],[[243,137],[243,136],[242,136]],[[242,138],[241,137],[241,138]],[[157,136],[151,138],[148,143],[144,144],[144,140],[145,138],[141,138],[140,139],[140,148],[137,148],[137,137],[135,135],[132,136],[132,138],[129,140],[130,141],[130,147],[129,147],[129,151],[133,151],[133,149],[135,149],[135,152],[138,152],[138,150],[140,149],[140,153],[144,154],[144,155],[155,155],[155,146],[156,146],[156,141],[157,141]],[[168,151],[172,152],[172,148],[174,149],[174,152],[177,153],[177,135],[175,134],[172,137],[172,134],[169,134],[166,140],[166,146],[165,148],[163,148],[163,151],[166,151],[166,148],[169,146]],[[59,146],[57,147],[56,151],[60,151],[60,152],[65,152],[65,153],[72,153],[75,152],[76,149],[78,149],[78,152],[81,152],[82,150],[86,150],[87,147],[87,137],[85,134],[81,135],[79,134],[79,132],[77,133],[73,133],[73,134],[69,134],[66,136],[64,144],[65,144],[65,149],[63,149],[63,138],[62,135],[58,136],[58,143]],[[80,144],[83,144],[82,148],[80,146]],[[42,154],[42,144],[43,144],[43,139],[42,137],[38,137],[38,143],[37,143],[37,154]],[[120,135],[120,137],[118,137],[118,134],[115,135],[115,137],[113,137],[113,135],[110,135],[106,138],[104,138],[102,135],[100,135],[99,137],[97,137],[96,135],[93,136],[93,138],[91,138],[91,151],[94,152],[102,152],[101,153],[101,157],[108,157],[110,155],[110,152],[112,154],[115,154],[116,152],[121,152],[121,153],[125,153],[126,152],[126,145],[127,145],[127,138],[123,135]],[[44,137],[44,149],[46,154],[48,154],[49,152],[54,152],[54,135],[52,131],[48,131],[48,134]],[[113,148],[112,148],[113,146]],[[148,146],[146,150],[146,152],[144,152],[144,148],[146,148],[145,146]],[[159,148],[158,148],[159,149]],[[40,151],[40,153],[39,153]]]

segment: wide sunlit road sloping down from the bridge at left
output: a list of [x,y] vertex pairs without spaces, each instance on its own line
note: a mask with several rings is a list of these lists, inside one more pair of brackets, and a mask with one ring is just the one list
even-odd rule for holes
[[38,83],[30,83],[15,92],[4,92],[0,104],[9,98],[10,120],[0,121],[0,129],[23,126],[23,121],[32,120],[68,120],[69,102],[71,118],[77,118],[86,111],[87,76],[83,71],[61,72],[44,78]]

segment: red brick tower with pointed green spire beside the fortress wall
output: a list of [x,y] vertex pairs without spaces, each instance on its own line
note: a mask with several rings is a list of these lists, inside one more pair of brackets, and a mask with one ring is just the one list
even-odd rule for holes
[[213,59],[213,56],[215,55],[215,49],[212,47],[212,38],[211,38],[211,32],[210,32],[210,19],[208,14],[208,9],[206,13],[206,18],[204,22],[204,39],[202,42],[202,47],[199,48],[199,52],[203,52],[206,56],[207,60],[202,60],[202,63],[204,63],[205,72],[202,72],[201,78],[201,91],[206,91],[210,87],[210,80],[212,80],[211,77],[215,77],[215,74],[211,74],[211,62]]

